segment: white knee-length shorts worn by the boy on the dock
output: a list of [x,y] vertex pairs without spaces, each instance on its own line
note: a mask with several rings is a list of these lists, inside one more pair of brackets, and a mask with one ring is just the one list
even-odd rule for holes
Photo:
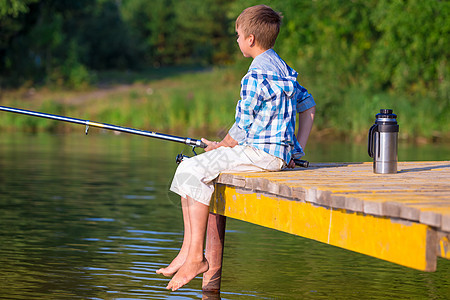
[[214,193],[213,180],[225,171],[279,171],[281,158],[251,146],[220,147],[184,159],[177,168],[170,190],[209,206]]

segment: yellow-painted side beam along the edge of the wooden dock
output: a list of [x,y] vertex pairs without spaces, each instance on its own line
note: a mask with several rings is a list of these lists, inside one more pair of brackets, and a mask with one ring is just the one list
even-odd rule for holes
[[436,247],[446,241],[448,247],[447,237],[438,238],[436,231],[424,224],[326,208],[223,184],[216,184],[210,211],[422,271],[435,271],[437,255],[448,256],[448,249]]

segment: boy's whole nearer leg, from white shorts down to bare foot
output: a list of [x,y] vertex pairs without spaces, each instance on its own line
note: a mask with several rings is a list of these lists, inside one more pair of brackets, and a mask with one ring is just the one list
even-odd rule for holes
[[189,220],[190,240],[186,243],[189,247],[185,263],[169,282],[167,289],[177,290],[209,268],[203,250],[209,201],[214,191],[212,180],[226,170],[278,171],[282,166],[282,159],[245,146],[220,147],[194,156],[178,166],[170,190],[187,199],[188,216],[184,218]]

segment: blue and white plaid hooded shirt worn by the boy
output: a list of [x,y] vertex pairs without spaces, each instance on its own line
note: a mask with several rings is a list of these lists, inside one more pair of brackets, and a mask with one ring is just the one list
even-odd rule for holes
[[241,81],[241,100],[230,136],[289,163],[303,149],[295,137],[295,117],[315,102],[297,82],[297,72],[269,49],[258,55]]

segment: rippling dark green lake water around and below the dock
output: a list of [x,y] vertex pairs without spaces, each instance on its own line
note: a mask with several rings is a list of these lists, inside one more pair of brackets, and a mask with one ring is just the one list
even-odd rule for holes
[[[312,162],[369,161],[365,145],[311,143]],[[168,192],[183,145],[129,135],[0,135],[1,299],[199,299],[155,271],[181,245]],[[201,151],[201,150],[200,150]],[[400,145],[448,160],[449,145]],[[222,299],[449,299],[450,261],[426,273],[228,219]],[[211,297],[209,299],[212,299]]]

